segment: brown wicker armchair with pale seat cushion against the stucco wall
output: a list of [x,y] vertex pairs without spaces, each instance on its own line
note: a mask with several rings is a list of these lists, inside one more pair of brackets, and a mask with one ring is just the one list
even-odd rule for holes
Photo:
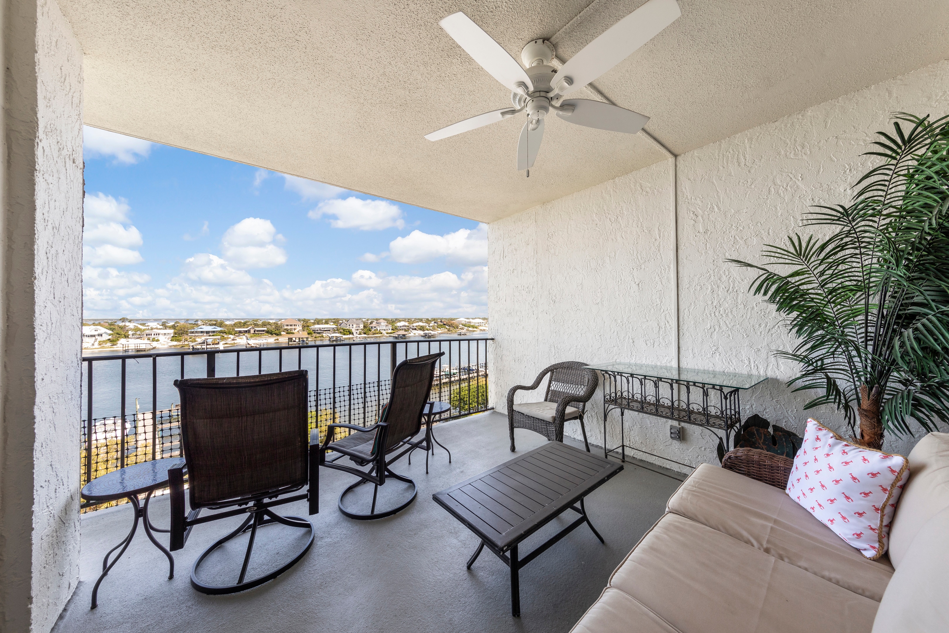
[[[514,394],[524,389],[533,391],[544,377],[550,375],[547,392],[541,402],[522,402],[514,404]],[[593,397],[600,379],[592,369],[586,369],[586,363],[569,361],[551,364],[537,375],[530,386],[518,384],[508,392],[508,426],[511,428],[511,450],[514,451],[514,429],[528,429],[539,433],[551,441],[564,441],[564,422],[568,419],[580,420],[580,431],[584,434],[584,445],[589,453],[590,445],[586,440],[584,412],[586,402]]]

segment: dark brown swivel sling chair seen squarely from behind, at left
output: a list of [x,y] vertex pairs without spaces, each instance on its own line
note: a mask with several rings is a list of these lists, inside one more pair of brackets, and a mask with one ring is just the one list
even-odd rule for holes
[[[168,471],[171,487],[171,548],[184,547],[195,525],[246,515],[236,530],[195,560],[191,584],[202,593],[244,591],[293,567],[313,545],[313,525],[299,516],[271,509],[308,499],[308,514],[318,512],[316,449],[307,428],[307,372],[196,378],[175,381],[181,396],[181,448],[188,476],[191,512],[185,515],[183,468]],[[304,488],[306,491],[303,491]],[[298,494],[297,491],[303,491]],[[199,516],[204,509],[225,510]],[[247,579],[257,531],[276,523],[309,531],[307,545],[288,563]],[[214,549],[251,531],[244,564],[234,585],[209,585],[197,570]]]

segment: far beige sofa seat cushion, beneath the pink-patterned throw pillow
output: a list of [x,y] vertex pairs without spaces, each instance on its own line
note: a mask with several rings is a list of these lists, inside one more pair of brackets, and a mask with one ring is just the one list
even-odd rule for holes
[[679,486],[668,510],[878,602],[893,574],[885,556],[868,560],[783,490],[710,464]]

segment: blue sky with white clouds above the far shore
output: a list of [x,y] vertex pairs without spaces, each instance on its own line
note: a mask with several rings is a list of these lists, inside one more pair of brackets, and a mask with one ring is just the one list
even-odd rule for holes
[[473,220],[84,128],[84,315],[487,314]]

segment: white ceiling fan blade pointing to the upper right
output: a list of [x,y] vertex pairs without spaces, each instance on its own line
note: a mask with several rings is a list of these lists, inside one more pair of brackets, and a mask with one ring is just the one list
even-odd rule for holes
[[568,95],[594,81],[675,22],[681,14],[676,0],[649,0],[571,57],[555,76],[558,84],[565,77],[571,84],[562,86],[557,92]]

